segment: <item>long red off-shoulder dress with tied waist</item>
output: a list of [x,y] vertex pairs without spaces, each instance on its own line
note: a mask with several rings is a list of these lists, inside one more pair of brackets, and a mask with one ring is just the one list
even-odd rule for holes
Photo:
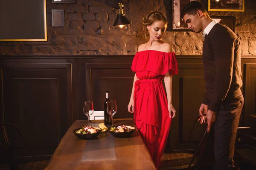
[[140,79],[134,84],[134,122],[158,169],[172,122],[162,80],[168,71],[178,74],[176,56],[173,52],[140,51],[131,69]]

